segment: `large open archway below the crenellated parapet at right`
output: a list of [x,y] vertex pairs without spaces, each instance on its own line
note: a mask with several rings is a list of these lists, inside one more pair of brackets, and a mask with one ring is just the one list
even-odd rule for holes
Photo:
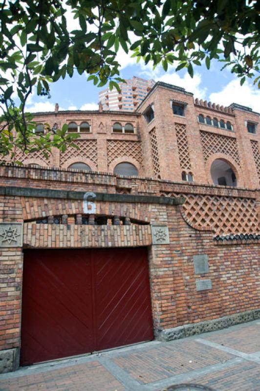
[[232,167],[222,159],[216,159],[210,169],[212,181],[220,186],[237,186],[237,178]]

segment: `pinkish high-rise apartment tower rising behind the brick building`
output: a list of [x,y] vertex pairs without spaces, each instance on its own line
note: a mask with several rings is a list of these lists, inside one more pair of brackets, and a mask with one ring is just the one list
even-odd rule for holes
[[99,101],[103,110],[134,111],[154,84],[152,79],[133,76],[132,79],[127,79],[126,83],[119,83],[120,92],[116,88],[111,91],[109,87],[103,89],[99,92]]

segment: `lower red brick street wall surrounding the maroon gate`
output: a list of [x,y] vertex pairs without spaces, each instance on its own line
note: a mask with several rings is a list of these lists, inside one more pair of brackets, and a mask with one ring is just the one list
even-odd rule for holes
[[[29,171],[28,171],[29,170]],[[28,178],[27,178],[28,176]],[[29,178],[30,177],[30,178]],[[44,180],[44,177],[46,180]],[[56,181],[55,181],[56,178]],[[117,188],[130,194],[160,195],[162,190],[173,195],[200,195],[220,199],[232,196],[239,201],[253,199],[259,204],[259,193],[252,190],[217,188],[192,184],[116,178],[113,175],[67,173],[59,170],[0,168],[0,191],[3,186],[54,188],[116,193]],[[132,193],[131,193],[132,192]],[[237,201],[237,202],[238,202]],[[240,201],[239,201],[240,202]],[[199,208],[199,205],[197,206]],[[184,207],[159,203],[97,201],[96,214],[130,217],[130,226],[89,227],[75,225],[75,215],[83,212],[82,200],[38,196],[1,196],[0,221],[31,221],[24,224],[24,245],[36,248],[128,247],[148,246],[152,311],[155,329],[215,319],[258,307],[259,246],[257,242],[217,244],[207,222],[199,229],[190,226],[183,215]],[[68,215],[67,226],[35,224],[41,217]],[[183,218],[184,216],[184,218]],[[169,227],[169,245],[151,245],[150,224]],[[196,226],[195,222],[194,225]],[[82,241],[81,231],[92,233]],[[22,249],[2,249],[0,256],[0,347],[20,344]],[[193,256],[207,254],[209,273],[195,275]],[[212,289],[198,292],[196,279],[211,279]]]

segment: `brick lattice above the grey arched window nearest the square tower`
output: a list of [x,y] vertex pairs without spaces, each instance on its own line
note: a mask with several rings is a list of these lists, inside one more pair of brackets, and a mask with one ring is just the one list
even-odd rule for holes
[[108,140],[108,165],[117,157],[132,157],[143,165],[143,152],[139,141]]

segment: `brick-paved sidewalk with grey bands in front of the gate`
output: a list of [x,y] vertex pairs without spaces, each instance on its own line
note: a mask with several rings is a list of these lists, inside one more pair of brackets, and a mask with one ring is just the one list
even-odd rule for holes
[[0,375],[1,391],[161,391],[182,383],[215,391],[260,391],[260,321]]

